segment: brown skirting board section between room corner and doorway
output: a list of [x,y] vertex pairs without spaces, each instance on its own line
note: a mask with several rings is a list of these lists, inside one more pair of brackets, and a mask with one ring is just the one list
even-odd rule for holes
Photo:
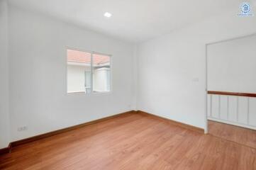
[[182,128],[186,128],[188,130],[193,130],[194,132],[204,133],[204,129],[195,127],[193,125],[187,125],[185,123],[180,123],[180,122],[177,122],[175,120],[171,120],[171,119],[168,119],[168,118],[163,118],[159,115],[154,115],[152,113],[147,113],[147,112],[144,112],[144,111],[137,111],[137,113],[143,114],[143,115],[148,115],[148,116],[151,116],[152,118],[157,118],[159,120],[165,120],[168,123],[171,123],[173,125],[177,125],[177,126],[182,127]]

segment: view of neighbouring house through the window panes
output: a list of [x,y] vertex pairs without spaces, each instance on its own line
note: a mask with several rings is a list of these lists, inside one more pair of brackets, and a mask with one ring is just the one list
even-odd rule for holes
[[67,93],[91,91],[111,91],[111,57],[67,49]]

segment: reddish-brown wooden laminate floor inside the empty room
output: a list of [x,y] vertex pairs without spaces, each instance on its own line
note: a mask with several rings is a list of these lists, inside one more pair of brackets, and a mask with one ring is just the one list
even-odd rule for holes
[[256,169],[256,150],[131,113],[31,142],[0,169]]

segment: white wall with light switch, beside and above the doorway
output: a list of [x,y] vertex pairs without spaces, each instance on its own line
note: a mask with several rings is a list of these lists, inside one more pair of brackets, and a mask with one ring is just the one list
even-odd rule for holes
[[205,128],[206,43],[256,33],[256,17],[238,13],[220,13],[140,44],[138,109]]

